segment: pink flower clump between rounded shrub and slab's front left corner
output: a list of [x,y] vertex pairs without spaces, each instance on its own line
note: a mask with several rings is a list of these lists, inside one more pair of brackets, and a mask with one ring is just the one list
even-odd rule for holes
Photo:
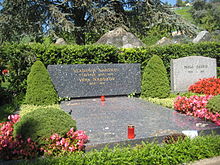
[[64,137],[53,134],[47,141],[48,145],[43,147],[45,154],[57,156],[65,152],[84,150],[88,136],[84,131],[74,131],[74,129],[71,128]]

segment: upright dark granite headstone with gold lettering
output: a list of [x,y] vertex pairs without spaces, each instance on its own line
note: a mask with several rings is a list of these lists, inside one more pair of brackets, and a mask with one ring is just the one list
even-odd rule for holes
[[140,93],[140,64],[49,65],[60,97],[91,97]]

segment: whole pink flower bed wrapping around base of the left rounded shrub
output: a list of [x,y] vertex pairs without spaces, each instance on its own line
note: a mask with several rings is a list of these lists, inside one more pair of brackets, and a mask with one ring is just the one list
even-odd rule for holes
[[88,141],[84,131],[74,131],[71,128],[64,137],[53,134],[47,139],[47,144],[40,148],[30,138],[24,140],[21,136],[13,137],[13,125],[19,121],[19,115],[10,115],[8,119],[9,121],[0,123],[0,159],[30,159],[42,154],[59,155],[82,151]]

